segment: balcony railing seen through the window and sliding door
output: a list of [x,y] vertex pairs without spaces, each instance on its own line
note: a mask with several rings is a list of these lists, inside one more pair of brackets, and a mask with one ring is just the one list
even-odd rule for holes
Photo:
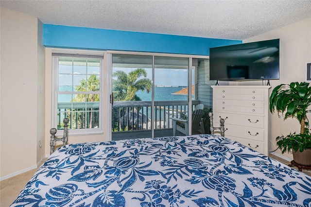
[[[199,104],[193,100],[192,106]],[[154,119],[151,119],[152,102],[114,102],[112,107],[112,133],[173,128],[171,117],[188,111],[188,101],[156,101]],[[69,118],[69,129],[96,128],[99,123],[98,102],[58,103],[58,124]],[[61,126],[59,126],[61,127]]]

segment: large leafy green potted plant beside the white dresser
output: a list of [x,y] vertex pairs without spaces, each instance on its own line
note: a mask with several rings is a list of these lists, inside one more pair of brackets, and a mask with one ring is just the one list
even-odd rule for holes
[[292,117],[300,123],[300,133],[279,136],[276,143],[284,152],[292,152],[294,162],[299,165],[311,166],[311,134],[307,113],[311,112],[311,86],[306,82],[294,82],[289,85],[276,86],[270,95],[269,109],[284,115],[284,120]]

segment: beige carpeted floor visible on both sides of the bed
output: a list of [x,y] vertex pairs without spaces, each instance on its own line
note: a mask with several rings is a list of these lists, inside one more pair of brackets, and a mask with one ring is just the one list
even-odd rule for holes
[[[270,157],[285,164],[290,163],[287,160],[281,159],[274,155],[270,155]],[[296,167],[294,168],[297,170]],[[13,201],[17,198],[17,195],[24,188],[36,170],[37,169],[34,169],[0,181],[0,207],[9,207],[13,203]],[[302,170],[302,172],[311,175],[311,170]]]

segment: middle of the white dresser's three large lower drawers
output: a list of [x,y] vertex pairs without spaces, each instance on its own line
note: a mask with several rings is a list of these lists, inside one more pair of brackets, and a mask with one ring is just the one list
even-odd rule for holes
[[247,138],[251,140],[264,140],[264,130],[255,127],[246,127],[225,123],[225,137]]

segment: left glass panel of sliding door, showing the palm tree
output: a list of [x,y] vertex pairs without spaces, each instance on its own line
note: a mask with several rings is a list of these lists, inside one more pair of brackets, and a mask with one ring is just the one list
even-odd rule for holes
[[112,55],[112,140],[152,137],[152,56]]

